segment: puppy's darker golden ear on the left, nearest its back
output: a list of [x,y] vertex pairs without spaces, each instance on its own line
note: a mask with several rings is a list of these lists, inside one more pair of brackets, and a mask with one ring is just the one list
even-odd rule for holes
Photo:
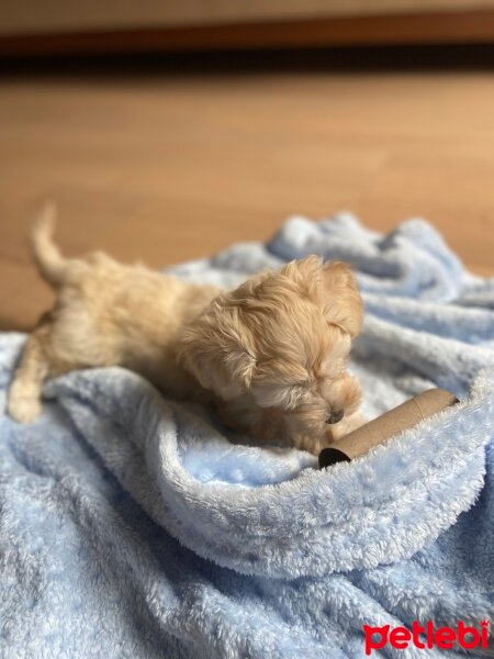
[[249,389],[256,360],[238,308],[224,305],[223,298],[186,328],[180,357],[202,387],[231,400]]

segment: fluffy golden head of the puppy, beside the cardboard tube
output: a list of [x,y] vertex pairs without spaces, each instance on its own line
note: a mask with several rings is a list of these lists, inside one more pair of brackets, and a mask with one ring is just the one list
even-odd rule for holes
[[182,359],[223,400],[251,396],[294,433],[322,433],[360,403],[346,361],[361,323],[348,266],[308,256],[215,298],[187,328]]

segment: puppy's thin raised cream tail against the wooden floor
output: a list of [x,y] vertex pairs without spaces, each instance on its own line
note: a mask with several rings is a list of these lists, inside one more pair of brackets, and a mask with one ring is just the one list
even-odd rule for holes
[[31,234],[31,249],[42,277],[53,287],[64,283],[68,260],[53,242],[57,210],[49,202],[43,208]]

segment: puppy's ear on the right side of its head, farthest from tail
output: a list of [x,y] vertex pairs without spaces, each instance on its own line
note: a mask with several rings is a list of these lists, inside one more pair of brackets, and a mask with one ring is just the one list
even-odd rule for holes
[[343,261],[322,267],[325,312],[328,323],[355,338],[362,327],[362,299],[353,272]]

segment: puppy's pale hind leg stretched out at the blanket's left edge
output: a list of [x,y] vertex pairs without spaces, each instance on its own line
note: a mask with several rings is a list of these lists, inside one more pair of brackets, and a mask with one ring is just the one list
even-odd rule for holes
[[31,423],[41,414],[43,382],[50,376],[45,349],[48,328],[42,325],[31,334],[9,390],[7,410],[19,423]]

